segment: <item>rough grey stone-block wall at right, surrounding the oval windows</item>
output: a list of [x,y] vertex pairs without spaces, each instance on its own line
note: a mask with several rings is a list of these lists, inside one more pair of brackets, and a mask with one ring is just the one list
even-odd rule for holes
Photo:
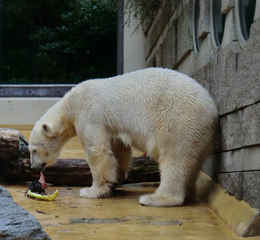
[[[221,150],[207,159],[203,170],[229,193],[260,209],[260,0],[245,42],[236,25],[237,1],[222,0],[226,19],[220,47],[212,39],[211,1],[200,0],[198,53],[192,31],[193,0],[183,0],[183,8],[176,2],[163,7],[159,21],[145,29],[146,67],[175,69],[209,90],[218,107]],[[129,49],[135,47],[131,44]]]

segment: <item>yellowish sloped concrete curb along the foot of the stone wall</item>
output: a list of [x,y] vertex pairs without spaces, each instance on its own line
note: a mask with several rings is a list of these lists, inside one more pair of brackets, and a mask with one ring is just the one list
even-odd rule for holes
[[227,193],[205,173],[197,180],[198,197],[240,237],[260,236],[260,212]]

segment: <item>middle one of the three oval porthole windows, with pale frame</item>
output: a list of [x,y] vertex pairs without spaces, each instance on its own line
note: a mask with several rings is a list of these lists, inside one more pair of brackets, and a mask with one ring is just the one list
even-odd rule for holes
[[216,53],[220,48],[225,27],[226,15],[221,14],[221,1],[210,1],[210,27],[213,50]]

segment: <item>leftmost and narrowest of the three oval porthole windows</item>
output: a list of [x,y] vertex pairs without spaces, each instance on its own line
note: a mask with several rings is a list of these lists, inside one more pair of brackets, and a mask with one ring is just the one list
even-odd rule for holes
[[200,17],[200,0],[193,0],[193,11],[192,11],[192,34],[193,34],[193,49],[195,57],[197,58],[200,52],[200,42],[198,39],[198,21]]

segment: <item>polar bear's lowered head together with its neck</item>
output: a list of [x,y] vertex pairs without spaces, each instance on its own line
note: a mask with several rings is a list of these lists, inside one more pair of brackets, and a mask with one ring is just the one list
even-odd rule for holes
[[29,140],[31,168],[40,171],[53,165],[65,142],[75,135],[70,111],[63,97],[34,125]]

